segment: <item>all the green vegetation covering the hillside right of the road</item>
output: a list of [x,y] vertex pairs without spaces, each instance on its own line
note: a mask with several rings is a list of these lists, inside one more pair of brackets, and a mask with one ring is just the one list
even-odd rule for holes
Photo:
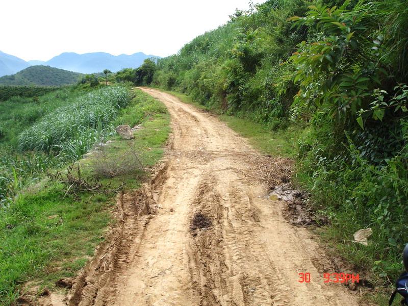
[[[304,126],[297,183],[337,252],[386,285],[407,242],[407,13],[402,0],[270,0],[122,74],[279,135]],[[351,242],[367,227],[367,246]]]

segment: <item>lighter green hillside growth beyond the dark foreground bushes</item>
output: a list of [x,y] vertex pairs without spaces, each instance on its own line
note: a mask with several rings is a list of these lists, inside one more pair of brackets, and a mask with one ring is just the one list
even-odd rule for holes
[[286,19],[306,10],[306,2],[293,0],[237,11],[227,24],[186,44],[179,55],[159,60],[152,83],[277,127],[289,116],[298,91],[286,60],[307,34],[304,28],[291,30]]

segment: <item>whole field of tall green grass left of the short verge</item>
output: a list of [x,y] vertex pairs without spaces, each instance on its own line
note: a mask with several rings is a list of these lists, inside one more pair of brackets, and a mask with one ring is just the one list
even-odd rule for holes
[[48,169],[81,158],[112,133],[113,120],[129,100],[125,86],[110,86],[88,93],[66,88],[38,100],[13,97],[1,103],[0,207]]

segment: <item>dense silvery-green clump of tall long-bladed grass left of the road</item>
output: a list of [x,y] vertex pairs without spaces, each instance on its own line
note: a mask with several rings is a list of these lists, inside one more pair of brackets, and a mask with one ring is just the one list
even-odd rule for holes
[[129,98],[127,89],[119,85],[89,92],[23,131],[18,137],[19,148],[43,151],[63,160],[78,159],[113,130],[111,123]]

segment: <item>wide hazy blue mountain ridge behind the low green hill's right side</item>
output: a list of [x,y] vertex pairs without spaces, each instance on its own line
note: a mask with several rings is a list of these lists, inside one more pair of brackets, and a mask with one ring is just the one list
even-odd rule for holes
[[104,69],[116,72],[123,68],[137,68],[145,59],[150,57],[155,56],[145,55],[142,52],[132,55],[121,54],[119,56],[104,52],[62,53],[47,61],[45,65],[81,73],[101,72]]

